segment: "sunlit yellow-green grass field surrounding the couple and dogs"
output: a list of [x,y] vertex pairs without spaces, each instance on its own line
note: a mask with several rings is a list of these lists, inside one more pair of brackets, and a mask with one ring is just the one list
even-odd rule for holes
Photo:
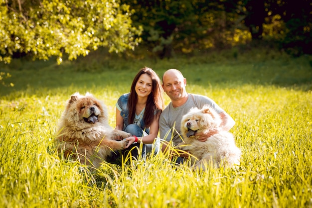
[[[14,60],[0,86],[0,207],[312,207],[312,57],[250,52],[170,60]],[[182,71],[190,93],[212,98],[236,121],[238,170],[192,171],[159,154],[146,163],[89,170],[54,153],[56,125],[71,94],[115,103],[144,66]],[[165,96],[165,103],[168,98]]]

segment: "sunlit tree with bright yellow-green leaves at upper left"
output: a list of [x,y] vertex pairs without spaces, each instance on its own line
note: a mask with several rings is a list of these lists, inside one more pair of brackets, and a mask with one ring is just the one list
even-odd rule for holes
[[0,0],[0,61],[14,53],[34,59],[51,56],[62,61],[108,47],[110,52],[132,49],[141,41],[130,10],[119,0]]

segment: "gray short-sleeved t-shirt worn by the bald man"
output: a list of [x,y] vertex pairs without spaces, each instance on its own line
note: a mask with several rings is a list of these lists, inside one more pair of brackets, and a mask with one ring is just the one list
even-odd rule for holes
[[[224,110],[217,105],[213,100],[206,96],[188,94],[188,99],[185,104],[179,107],[173,107],[170,102],[164,110],[161,112],[159,117],[159,135],[161,139],[166,141],[171,140],[173,145],[177,145],[182,142],[180,138],[180,126],[182,116],[185,115],[190,108],[197,107],[202,108],[205,104],[211,105],[218,113],[223,112]],[[173,130],[173,132],[172,132]]]

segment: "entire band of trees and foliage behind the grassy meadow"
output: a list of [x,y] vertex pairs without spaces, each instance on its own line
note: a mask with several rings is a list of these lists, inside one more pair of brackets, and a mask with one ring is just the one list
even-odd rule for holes
[[[53,4],[47,2],[2,0],[1,60],[3,57],[18,58],[27,54],[40,59],[51,56],[62,57],[65,54],[70,59],[76,59],[77,56],[88,55],[89,51],[97,50],[99,47],[108,48],[110,52],[136,56],[135,58],[195,55],[198,52],[233,47],[240,52],[260,45],[277,48],[293,56],[312,54],[310,0],[55,0]],[[103,11],[105,8],[102,7],[103,3],[110,5],[110,9]],[[31,12],[36,9],[37,12]],[[63,16],[66,17],[69,13],[71,16],[68,21],[62,22]],[[14,25],[14,21],[10,26],[4,24],[6,22],[4,14],[16,19],[18,24]],[[55,29],[54,27],[63,27],[61,29],[64,31],[70,29],[66,33],[65,38],[68,41],[65,45],[63,39],[59,40],[57,36],[54,37],[53,43],[49,30],[45,33],[37,31],[32,34],[32,31],[39,27],[38,19],[47,18],[47,15],[55,18],[55,21],[48,22],[51,30]],[[114,18],[116,22],[104,20],[102,22],[101,19],[108,19],[106,15]],[[78,24],[81,17],[84,18],[84,22]],[[75,18],[78,20],[74,21]],[[33,28],[29,26],[30,22],[36,21],[37,25],[34,24]],[[109,28],[103,28],[101,24],[108,25]],[[7,30],[6,27],[10,29],[10,38],[5,39],[3,34]],[[23,28],[29,32],[21,33]],[[74,35],[71,30],[74,31]],[[90,34],[93,34],[92,38],[90,36],[83,39],[84,42],[81,41],[77,47],[77,40],[81,40],[83,35],[86,37]],[[29,42],[34,38],[50,40],[52,44],[58,46],[51,50],[51,43],[30,45]],[[133,52],[134,49],[136,52]]]

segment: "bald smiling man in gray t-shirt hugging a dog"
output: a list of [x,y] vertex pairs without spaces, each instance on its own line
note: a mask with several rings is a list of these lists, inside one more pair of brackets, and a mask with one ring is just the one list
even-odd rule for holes
[[[172,141],[174,146],[182,142],[180,138],[182,116],[186,114],[190,108],[202,108],[205,104],[210,104],[219,113],[222,119],[221,127],[223,130],[229,131],[234,126],[235,121],[233,118],[213,100],[206,96],[189,94],[186,92],[185,86],[186,79],[183,77],[182,73],[176,69],[169,69],[162,76],[162,88],[171,102],[160,114],[160,138],[164,139],[166,142]],[[199,140],[204,142],[215,133],[217,133],[216,130],[209,131],[207,134],[196,133],[196,136],[199,136]],[[162,151],[166,151],[166,148],[167,146],[163,144]],[[178,160],[179,163],[182,163],[181,158]]]

